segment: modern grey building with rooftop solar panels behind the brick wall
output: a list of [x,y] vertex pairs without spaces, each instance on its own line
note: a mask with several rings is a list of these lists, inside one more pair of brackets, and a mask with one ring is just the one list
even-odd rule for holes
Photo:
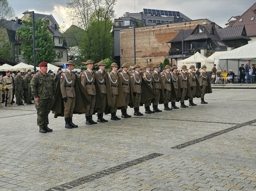
[[178,11],[165,11],[156,9],[143,9],[140,13],[126,12],[122,17],[114,20],[113,35],[114,35],[114,59],[120,63],[120,30],[141,26],[154,26],[161,24],[171,24],[177,22],[191,21],[189,17]]

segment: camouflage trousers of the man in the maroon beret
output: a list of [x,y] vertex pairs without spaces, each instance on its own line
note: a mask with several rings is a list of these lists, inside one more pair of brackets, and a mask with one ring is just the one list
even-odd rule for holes
[[37,125],[42,126],[49,124],[48,114],[51,111],[52,99],[39,99],[39,103],[35,103],[37,110]]

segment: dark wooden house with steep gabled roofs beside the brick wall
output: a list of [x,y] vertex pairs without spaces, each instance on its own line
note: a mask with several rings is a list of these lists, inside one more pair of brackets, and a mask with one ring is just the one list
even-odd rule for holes
[[227,51],[228,47],[238,48],[248,44],[251,39],[246,34],[244,25],[221,28],[215,23],[210,25],[197,25],[194,29],[181,30],[167,43],[170,50],[166,58],[182,59],[182,33],[183,58],[193,55],[201,49],[209,52]]

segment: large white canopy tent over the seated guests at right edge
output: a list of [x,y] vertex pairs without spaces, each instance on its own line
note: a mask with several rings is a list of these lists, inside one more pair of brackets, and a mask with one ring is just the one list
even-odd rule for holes
[[[215,57],[215,64],[221,70],[233,70],[235,74],[239,74],[239,67],[250,61],[250,65],[256,63],[256,41],[248,45],[241,46],[225,54]],[[255,62],[254,62],[255,61]]]

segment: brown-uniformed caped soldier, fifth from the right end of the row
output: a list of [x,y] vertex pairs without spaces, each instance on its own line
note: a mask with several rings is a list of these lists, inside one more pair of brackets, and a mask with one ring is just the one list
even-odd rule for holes
[[170,70],[171,70],[171,66],[166,65],[165,66],[165,72],[163,72],[162,74],[162,81],[163,81],[163,88],[164,88],[164,92],[165,92],[165,99],[164,99],[164,110],[169,111],[172,110],[171,108],[169,108],[169,101],[171,99],[171,74],[170,74]]

